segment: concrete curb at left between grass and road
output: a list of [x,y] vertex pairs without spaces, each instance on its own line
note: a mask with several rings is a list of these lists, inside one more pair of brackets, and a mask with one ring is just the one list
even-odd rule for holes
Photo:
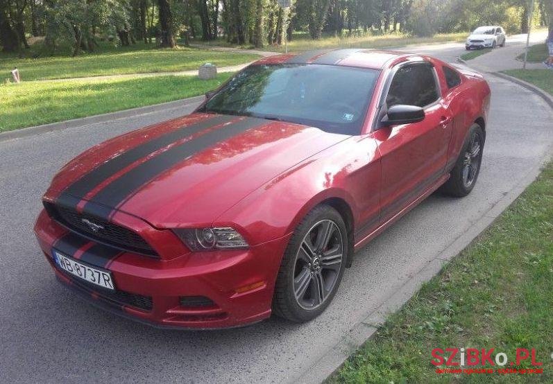
[[36,125],[35,127],[22,128],[19,130],[12,130],[8,132],[0,132],[0,142],[13,139],[22,139],[23,137],[34,136],[35,134],[42,134],[46,132],[66,130],[67,128],[83,127],[85,125],[90,125],[94,123],[104,123],[106,121],[124,119],[126,117],[141,116],[153,112],[173,110],[178,107],[184,107],[186,105],[201,102],[203,101],[204,97],[205,96],[194,96],[191,98],[183,98],[177,101],[169,101],[168,103],[147,105],[146,107],[138,107],[130,110],[110,112],[107,114],[97,114],[94,116],[82,117],[80,119],[71,119],[60,121],[58,123]]

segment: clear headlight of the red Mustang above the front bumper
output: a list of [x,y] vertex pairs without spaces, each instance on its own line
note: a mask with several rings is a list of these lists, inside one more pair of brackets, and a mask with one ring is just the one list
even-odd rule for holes
[[173,229],[173,232],[192,251],[237,250],[248,247],[242,235],[230,227]]

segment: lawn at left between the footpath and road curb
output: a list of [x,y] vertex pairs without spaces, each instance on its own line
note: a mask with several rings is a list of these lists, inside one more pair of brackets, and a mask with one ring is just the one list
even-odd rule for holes
[[192,76],[0,85],[0,132],[204,94],[228,79]]

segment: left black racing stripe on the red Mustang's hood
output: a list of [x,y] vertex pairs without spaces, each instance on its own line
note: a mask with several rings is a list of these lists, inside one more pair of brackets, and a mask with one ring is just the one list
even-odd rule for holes
[[198,121],[198,123],[185,125],[167,134],[163,134],[160,137],[146,141],[146,143],[142,143],[135,148],[130,148],[126,152],[121,153],[121,155],[97,166],[89,173],[86,173],[80,177],[80,179],[76,182],[69,185],[58,198],[58,202],[64,204],[66,207],[76,207],[76,204],[80,201],[78,198],[83,198],[87,193],[94,189],[94,187],[111,177],[117,171],[120,171],[126,166],[133,164],[137,160],[150,155],[152,152],[155,152],[164,146],[168,146],[175,141],[201,132],[202,130],[212,127],[213,125],[227,123],[232,118],[233,116],[209,117],[205,120]]

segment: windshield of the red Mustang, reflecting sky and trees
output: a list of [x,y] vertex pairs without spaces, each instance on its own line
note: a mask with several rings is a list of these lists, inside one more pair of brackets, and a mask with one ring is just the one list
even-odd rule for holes
[[253,65],[237,73],[200,111],[359,134],[378,73],[318,64]]

